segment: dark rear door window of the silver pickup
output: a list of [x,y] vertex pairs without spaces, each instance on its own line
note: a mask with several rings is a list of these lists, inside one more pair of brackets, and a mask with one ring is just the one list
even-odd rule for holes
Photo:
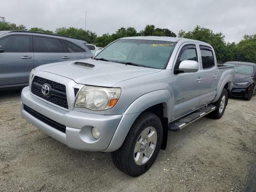
[[215,65],[212,49],[206,46],[200,46],[203,69],[212,68]]

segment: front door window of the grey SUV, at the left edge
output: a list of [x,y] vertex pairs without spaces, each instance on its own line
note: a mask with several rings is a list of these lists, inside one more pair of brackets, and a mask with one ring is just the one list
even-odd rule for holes
[[0,40],[4,52],[29,52],[30,36],[12,35]]

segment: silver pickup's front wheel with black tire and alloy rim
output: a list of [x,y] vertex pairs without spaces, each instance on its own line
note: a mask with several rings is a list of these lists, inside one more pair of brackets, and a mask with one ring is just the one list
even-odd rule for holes
[[132,177],[144,174],[156,160],[162,137],[158,116],[143,112],[130,128],[122,146],[111,153],[114,165]]

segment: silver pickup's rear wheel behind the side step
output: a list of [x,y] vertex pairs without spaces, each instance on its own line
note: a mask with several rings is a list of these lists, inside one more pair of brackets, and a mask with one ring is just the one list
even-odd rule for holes
[[222,115],[224,114],[227,103],[228,103],[228,91],[224,88],[222,90],[222,93],[220,94],[220,98],[215,103],[212,103],[217,108],[216,110],[214,110],[209,114],[209,117],[213,119],[221,118]]

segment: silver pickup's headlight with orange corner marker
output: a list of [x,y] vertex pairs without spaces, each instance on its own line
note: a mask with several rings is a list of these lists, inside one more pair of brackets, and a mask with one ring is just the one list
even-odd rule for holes
[[84,86],[77,98],[75,107],[94,111],[106,110],[115,106],[121,94],[121,88]]

